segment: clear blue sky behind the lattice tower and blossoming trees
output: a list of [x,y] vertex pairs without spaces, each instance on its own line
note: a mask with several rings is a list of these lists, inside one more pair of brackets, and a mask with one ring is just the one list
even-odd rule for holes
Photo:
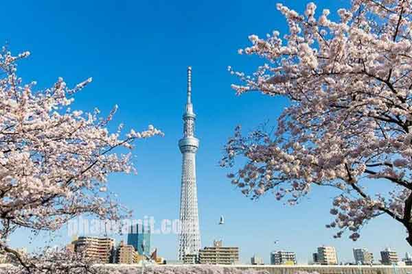
[[[242,262],[254,253],[269,262],[275,249],[296,251],[306,263],[319,245],[334,245],[340,260],[352,260],[353,247],[374,252],[393,247],[411,251],[404,229],[387,218],[372,221],[358,242],[335,240],[325,229],[334,193],[314,188],[298,206],[284,206],[271,195],[250,201],[226,179],[218,167],[222,146],[241,124],[253,129],[275,119],[286,106],[279,98],[258,93],[236,97],[230,84],[236,81],[227,66],[251,72],[261,60],[240,56],[237,49],[249,45],[247,36],[264,36],[274,29],[284,33],[286,22],[276,1],[5,1],[0,21],[0,41],[15,53],[31,51],[19,64],[25,81],[39,88],[51,86],[61,76],[67,84],[93,77],[93,83],[76,97],[74,108],[108,114],[119,110],[113,126],[146,129],[153,124],[163,138],[137,143],[138,175],[115,175],[109,189],[134,210],[137,219],[176,219],[179,216],[181,153],[186,66],[193,67],[192,101],[197,114],[196,135],[201,140],[197,155],[198,206],[202,245],[222,238],[225,245],[240,247]],[[307,1],[284,1],[302,12]],[[317,1],[321,8],[347,5],[347,1]],[[226,224],[218,226],[220,215]],[[56,243],[69,240],[62,232]],[[117,239],[122,237],[118,236]],[[274,240],[279,240],[277,245]],[[44,244],[37,236],[27,243],[27,233],[11,239],[14,247],[29,249]],[[152,237],[159,255],[176,257],[176,236]]]

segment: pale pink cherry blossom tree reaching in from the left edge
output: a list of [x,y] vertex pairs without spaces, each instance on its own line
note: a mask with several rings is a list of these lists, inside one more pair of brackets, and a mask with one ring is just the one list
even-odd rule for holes
[[23,84],[16,61],[28,55],[7,49],[0,55],[0,252],[25,267],[33,260],[25,264],[8,245],[16,229],[53,232],[80,214],[121,218],[127,211],[106,192],[108,175],[134,172],[133,142],[162,134],[152,125],[144,132],[123,133],[122,125],[110,132],[117,107],[106,119],[97,109],[71,110],[73,96],[91,79],[74,88],[62,78],[46,90]]

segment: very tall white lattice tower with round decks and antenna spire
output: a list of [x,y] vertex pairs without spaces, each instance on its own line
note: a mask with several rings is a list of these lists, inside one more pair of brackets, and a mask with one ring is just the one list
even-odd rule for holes
[[179,140],[179,149],[183,155],[180,221],[179,260],[185,255],[197,255],[201,248],[201,232],[199,230],[198,201],[196,190],[196,151],[199,140],[194,137],[194,121],[196,115],[192,105],[192,68],[187,68],[187,103],[183,114],[183,138]]

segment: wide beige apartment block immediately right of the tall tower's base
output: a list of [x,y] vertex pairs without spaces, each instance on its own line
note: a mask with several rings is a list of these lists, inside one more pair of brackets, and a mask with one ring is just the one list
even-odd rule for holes
[[239,247],[223,247],[221,240],[215,240],[213,247],[199,251],[198,262],[201,264],[237,264]]

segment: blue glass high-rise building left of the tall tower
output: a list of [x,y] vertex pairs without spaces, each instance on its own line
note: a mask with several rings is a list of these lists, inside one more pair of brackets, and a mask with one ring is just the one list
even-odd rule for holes
[[127,235],[127,244],[133,245],[140,255],[150,256],[150,226],[141,223],[132,225]]

